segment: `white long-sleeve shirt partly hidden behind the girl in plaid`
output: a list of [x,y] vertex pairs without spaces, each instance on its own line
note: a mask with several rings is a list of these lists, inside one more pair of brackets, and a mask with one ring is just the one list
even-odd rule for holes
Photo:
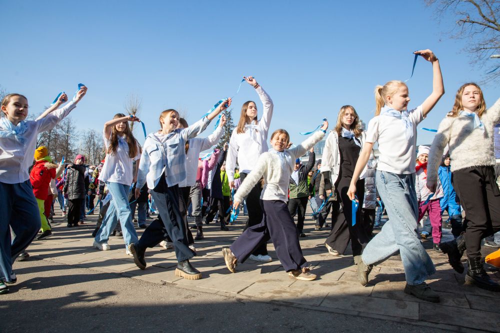
[[186,153],[186,177],[179,182],[179,187],[194,186],[196,173],[198,171],[198,157],[200,151],[210,148],[216,144],[222,136],[224,128],[217,126],[213,133],[207,137],[195,137],[189,140],[189,149]]

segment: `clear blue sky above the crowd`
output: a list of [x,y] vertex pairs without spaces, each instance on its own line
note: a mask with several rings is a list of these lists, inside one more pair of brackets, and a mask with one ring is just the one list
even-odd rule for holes
[[[86,84],[71,113],[81,130],[101,131],[132,91],[142,98],[148,132],[166,108],[187,111],[192,123],[233,95],[242,75],[254,75],[274,101],[271,130],[285,128],[298,142],[298,132],[323,117],[331,127],[344,104],[368,122],[375,85],[408,78],[411,52],[423,48],[439,57],[446,93],[419,127],[437,128],[457,88],[481,78],[462,50],[466,42],[445,34],[455,18],[439,25],[423,0],[1,3],[0,84],[25,94],[31,113]],[[416,107],[432,90],[430,63],[418,59],[408,87]],[[482,88],[491,105],[498,87]],[[256,93],[243,85],[233,100],[235,122],[248,99],[261,115]],[[135,135],[143,141],[139,128]],[[432,137],[420,130],[418,143]]]

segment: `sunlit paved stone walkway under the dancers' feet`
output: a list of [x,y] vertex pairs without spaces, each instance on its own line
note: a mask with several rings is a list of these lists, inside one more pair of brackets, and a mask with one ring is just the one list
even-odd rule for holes
[[[247,260],[238,264],[236,273],[229,272],[221,247],[229,245],[241,233],[245,216],[238,218],[237,225],[229,226],[229,231],[220,231],[214,223],[204,225],[205,239],[196,242],[197,256],[190,260],[202,272],[200,280],[175,276],[173,250],[148,249],[147,268],[140,270],[133,259],[125,255],[120,237],[109,239],[111,250],[93,248],[90,233],[96,218],[96,215],[90,215],[85,225],[66,228],[62,217],[55,217],[53,236],[34,241],[27,251],[44,260],[220,295],[435,328],[470,331],[480,325],[480,329],[486,331],[500,331],[500,293],[464,284],[464,274],[454,272],[447,264],[446,256],[431,249],[431,241],[425,241],[424,246],[437,272],[427,282],[439,293],[441,302],[438,304],[421,301],[403,292],[404,271],[399,256],[375,266],[369,284],[361,286],[352,256],[329,255],[323,245],[328,231],[313,231],[314,223],[310,218],[306,219],[304,228],[308,236],[300,238],[300,243],[312,272],[319,276],[311,282],[290,279],[277,260],[272,244],[268,244],[268,249],[274,261],[257,263]],[[137,229],[139,236],[141,230]],[[444,235],[451,237],[447,230],[444,230]],[[484,250],[491,252],[488,248]],[[493,278],[500,279],[500,272],[494,272]]]

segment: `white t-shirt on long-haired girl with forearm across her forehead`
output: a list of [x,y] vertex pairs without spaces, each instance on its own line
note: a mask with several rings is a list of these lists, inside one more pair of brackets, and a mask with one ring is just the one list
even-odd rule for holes
[[[106,149],[111,144],[103,133],[104,145]],[[99,173],[100,181],[117,182],[119,184],[130,185],[133,180],[133,161],[140,158],[140,146],[137,143],[137,154],[135,157],[128,156],[128,143],[124,137],[118,137],[118,147],[115,154],[106,154],[104,165]]]

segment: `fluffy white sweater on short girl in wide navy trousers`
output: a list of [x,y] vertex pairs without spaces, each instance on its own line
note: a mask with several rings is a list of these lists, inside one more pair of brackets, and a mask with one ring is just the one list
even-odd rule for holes
[[245,177],[239,186],[235,201],[243,201],[243,197],[248,195],[260,177],[264,177],[264,187],[260,193],[262,200],[288,201],[288,183],[290,179],[295,159],[302,156],[314,144],[319,142],[324,136],[323,131],[316,131],[306,140],[290,149],[285,149],[283,153],[276,151],[266,151],[257,160],[256,165]]

